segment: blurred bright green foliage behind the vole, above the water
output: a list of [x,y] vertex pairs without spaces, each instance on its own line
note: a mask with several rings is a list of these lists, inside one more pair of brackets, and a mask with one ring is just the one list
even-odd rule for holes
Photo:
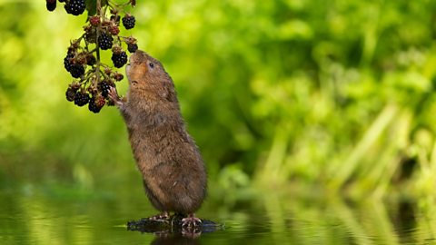
[[[149,205],[117,110],[65,99],[66,48],[86,16],[43,2],[0,0],[0,190]],[[433,209],[436,1],[139,0],[130,10],[136,25],[122,34],[171,74],[203,152],[205,211],[272,192]]]

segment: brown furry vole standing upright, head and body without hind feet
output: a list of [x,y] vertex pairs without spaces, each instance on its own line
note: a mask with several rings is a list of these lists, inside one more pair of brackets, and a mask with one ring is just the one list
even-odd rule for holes
[[111,98],[124,117],[145,192],[159,211],[193,213],[206,194],[206,172],[185,130],[173,80],[159,61],[139,50],[126,74],[126,98],[116,92]]

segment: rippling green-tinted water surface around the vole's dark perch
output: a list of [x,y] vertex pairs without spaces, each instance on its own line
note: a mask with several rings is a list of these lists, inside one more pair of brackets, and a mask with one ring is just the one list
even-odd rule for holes
[[[121,198],[120,198],[121,197]],[[343,201],[265,193],[233,207],[206,201],[198,213],[224,225],[196,238],[126,229],[154,214],[144,197],[107,191],[0,193],[0,244],[433,244],[431,201]]]

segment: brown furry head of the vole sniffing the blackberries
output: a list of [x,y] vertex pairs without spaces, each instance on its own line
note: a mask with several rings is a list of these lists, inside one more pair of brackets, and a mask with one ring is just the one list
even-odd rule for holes
[[130,56],[130,64],[126,65],[125,73],[131,91],[155,93],[166,100],[176,100],[171,77],[158,60],[144,51],[137,50]]

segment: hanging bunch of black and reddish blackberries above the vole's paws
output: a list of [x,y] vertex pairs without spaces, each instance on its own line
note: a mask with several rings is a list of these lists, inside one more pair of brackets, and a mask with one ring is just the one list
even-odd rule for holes
[[[93,113],[99,113],[104,105],[114,105],[108,96],[109,91],[116,87],[115,83],[124,79],[124,75],[116,72],[115,68],[127,63],[127,50],[134,53],[138,49],[133,36],[120,35],[121,23],[127,30],[135,25],[133,15],[120,16],[119,11],[124,6],[136,4],[134,0],[126,1],[124,4],[114,4],[107,0],[45,0],[48,11],[54,11],[56,2],[59,2],[71,15],[82,15],[85,9],[90,10],[91,5],[100,7],[96,15],[91,11],[84,25],[84,33],[71,41],[64,56],[64,68],[74,78],[65,91],[66,100],[78,106],[87,104]],[[112,49],[114,66],[104,64],[100,59],[102,51],[108,49]]]

